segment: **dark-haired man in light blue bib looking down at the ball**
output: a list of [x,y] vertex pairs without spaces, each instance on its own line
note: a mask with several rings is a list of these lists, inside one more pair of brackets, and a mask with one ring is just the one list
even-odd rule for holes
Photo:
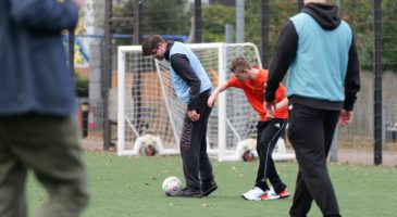
[[142,52],[171,64],[173,88],[187,108],[179,141],[186,188],[174,196],[208,196],[218,189],[207,153],[207,125],[212,111],[207,100],[212,90],[211,80],[197,55],[182,42],[152,35],[144,39]]

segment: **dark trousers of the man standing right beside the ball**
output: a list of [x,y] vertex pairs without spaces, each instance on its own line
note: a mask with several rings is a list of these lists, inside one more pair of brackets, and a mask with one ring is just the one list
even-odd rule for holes
[[212,165],[207,154],[207,124],[211,113],[207,101],[210,91],[200,94],[197,113],[200,118],[191,122],[185,115],[181,138],[181,155],[186,180],[186,187],[201,189],[201,182],[213,180]]

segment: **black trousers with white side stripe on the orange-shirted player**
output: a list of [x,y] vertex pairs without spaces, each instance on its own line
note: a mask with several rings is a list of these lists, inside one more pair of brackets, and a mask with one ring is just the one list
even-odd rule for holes
[[266,179],[272,183],[276,193],[285,190],[286,186],[282,182],[275,169],[272,153],[278,141],[280,136],[285,129],[285,119],[275,118],[269,122],[258,122],[257,152],[259,156],[259,167],[256,186],[263,191],[269,190]]

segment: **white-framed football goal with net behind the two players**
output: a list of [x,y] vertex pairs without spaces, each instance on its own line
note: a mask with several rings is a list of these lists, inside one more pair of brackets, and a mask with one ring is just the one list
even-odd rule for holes
[[[244,56],[262,67],[253,43],[190,43],[213,87],[232,77],[233,59]],[[119,47],[117,154],[138,155],[152,148],[159,154],[179,153],[179,138],[186,105],[176,97],[170,64],[144,56],[140,46]],[[219,161],[239,161],[257,137],[258,114],[241,90],[220,93],[208,123],[208,153]],[[284,140],[273,153],[275,159],[294,158]]]

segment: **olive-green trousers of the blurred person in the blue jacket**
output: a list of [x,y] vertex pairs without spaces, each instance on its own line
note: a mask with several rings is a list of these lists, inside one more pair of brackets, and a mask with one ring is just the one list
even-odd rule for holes
[[26,217],[28,170],[49,194],[42,217],[79,216],[88,186],[75,117],[0,117],[0,216]]

